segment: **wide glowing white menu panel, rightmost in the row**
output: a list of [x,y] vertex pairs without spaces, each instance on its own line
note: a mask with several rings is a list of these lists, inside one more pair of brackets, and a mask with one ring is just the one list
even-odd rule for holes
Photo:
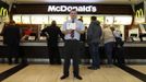
[[114,16],[113,24],[130,25],[131,22],[132,22],[132,16]]

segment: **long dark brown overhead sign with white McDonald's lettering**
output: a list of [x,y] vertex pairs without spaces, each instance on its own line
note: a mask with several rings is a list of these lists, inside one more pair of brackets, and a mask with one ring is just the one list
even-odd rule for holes
[[132,14],[130,4],[97,3],[13,3],[13,14],[69,14],[75,9],[78,14]]

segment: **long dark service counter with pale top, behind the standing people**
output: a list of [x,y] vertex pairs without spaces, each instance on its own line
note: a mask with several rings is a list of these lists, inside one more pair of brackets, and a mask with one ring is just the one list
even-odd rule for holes
[[[83,45],[83,44],[82,44]],[[59,49],[61,56],[63,56],[64,43],[59,43]],[[0,57],[7,56],[7,47],[0,42]],[[27,58],[48,58],[47,43],[46,42],[22,42],[21,55]],[[85,44],[85,48],[81,48],[82,58],[89,58],[88,45]],[[100,57],[105,58],[104,47],[100,45]],[[124,56],[126,59],[146,59],[146,43],[124,43]]]

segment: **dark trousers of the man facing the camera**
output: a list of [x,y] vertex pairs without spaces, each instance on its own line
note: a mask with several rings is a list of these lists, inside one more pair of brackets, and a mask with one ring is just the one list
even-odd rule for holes
[[71,65],[71,58],[73,59],[73,73],[74,75],[78,75],[78,61],[80,61],[80,42],[78,40],[65,40],[64,46],[64,66],[63,73],[64,75],[69,75],[69,69]]

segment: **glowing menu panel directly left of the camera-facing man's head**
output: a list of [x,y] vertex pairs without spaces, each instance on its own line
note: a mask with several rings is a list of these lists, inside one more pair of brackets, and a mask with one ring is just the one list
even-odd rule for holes
[[52,21],[56,21],[57,24],[63,24],[66,19],[68,16],[65,15],[49,15],[49,24],[51,24]]

